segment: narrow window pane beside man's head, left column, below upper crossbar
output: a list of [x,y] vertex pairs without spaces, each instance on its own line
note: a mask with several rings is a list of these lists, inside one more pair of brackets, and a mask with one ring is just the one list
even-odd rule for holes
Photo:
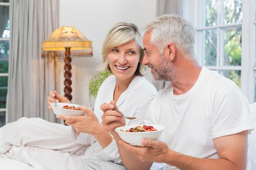
[[203,31],[205,33],[204,65],[215,65],[217,59],[217,29]]

